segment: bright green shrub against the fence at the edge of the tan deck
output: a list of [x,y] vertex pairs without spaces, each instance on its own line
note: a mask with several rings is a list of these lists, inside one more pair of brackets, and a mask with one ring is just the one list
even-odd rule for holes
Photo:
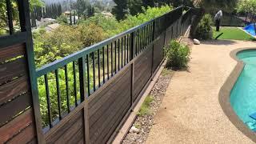
[[187,67],[190,62],[190,48],[182,45],[179,42],[171,41],[165,48],[168,68],[183,68]]

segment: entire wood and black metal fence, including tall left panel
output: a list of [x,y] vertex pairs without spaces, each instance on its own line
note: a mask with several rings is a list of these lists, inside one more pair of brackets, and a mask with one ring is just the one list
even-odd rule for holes
[[112,142],[161,65],[163,47],[192,17],[180,6],[35,70],[27,0],[18,7],[21,31],[0,37],[0,143]]

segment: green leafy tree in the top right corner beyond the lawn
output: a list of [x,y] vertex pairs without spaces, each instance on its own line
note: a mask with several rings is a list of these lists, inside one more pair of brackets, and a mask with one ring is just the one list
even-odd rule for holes
[[251,15],[251,21],[254,23],[254,32],[256,34],[255,16],[256,16],[256,0],[239,0],[237,5],[239,12],[244,12]]

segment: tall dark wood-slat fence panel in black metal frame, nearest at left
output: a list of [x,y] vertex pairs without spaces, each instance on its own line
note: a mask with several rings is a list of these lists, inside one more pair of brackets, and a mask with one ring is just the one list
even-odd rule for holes
[[43,141],[27,0],[17,1],[20,30],[14,30],[6,0],[9,34],[0,37],[0,143]]

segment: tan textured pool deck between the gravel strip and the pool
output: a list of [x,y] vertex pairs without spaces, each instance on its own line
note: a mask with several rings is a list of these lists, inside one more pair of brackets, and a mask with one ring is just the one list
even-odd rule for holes
[[174,73],[146,143],[254,143],[230,122],[218,93],[237,62],[232,50],[256,42],[218,40],[193,46],[190,68]]

